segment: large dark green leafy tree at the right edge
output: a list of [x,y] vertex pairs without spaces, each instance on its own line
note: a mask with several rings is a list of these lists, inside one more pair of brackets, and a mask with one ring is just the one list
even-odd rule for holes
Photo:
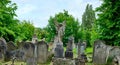
[[119,0],[103,0],[96,8],[98,14],[97,29],[99,39],[108,45],[120,45],[120,2]]

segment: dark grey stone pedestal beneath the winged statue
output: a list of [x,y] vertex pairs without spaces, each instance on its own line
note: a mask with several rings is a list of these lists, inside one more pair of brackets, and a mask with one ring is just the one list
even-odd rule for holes
[[54,56],[55,58],[63,58],[64,49],[62,45],[57,45],[55,48]]

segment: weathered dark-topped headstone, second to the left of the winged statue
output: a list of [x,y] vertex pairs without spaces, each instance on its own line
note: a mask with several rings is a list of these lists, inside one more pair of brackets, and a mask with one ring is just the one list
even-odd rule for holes
[[25,60],[27,65],[36,65],[36,60],[34,58],[34,44],[31,42],[24,42],[23,48]]

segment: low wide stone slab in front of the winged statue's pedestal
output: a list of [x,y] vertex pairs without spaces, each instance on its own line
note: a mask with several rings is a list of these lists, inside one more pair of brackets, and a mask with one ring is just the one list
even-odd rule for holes
[[75,65],[75,61],[65,58],[55,58],[53,60],[53,65]]

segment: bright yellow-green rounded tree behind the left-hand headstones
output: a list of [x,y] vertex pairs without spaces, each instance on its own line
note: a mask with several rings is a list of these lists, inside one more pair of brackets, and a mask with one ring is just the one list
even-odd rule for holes
[[32,23],[30,23],[30,21],[23,20],[22,22],[19,23],[17,30],[18,36],[16,37],[16,40],[26,41],[32,40],[35,27],[33,26]]

